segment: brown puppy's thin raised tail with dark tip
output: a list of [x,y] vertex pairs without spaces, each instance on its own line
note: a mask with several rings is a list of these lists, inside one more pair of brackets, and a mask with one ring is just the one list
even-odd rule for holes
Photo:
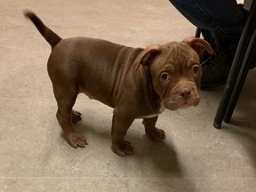
[[47,28],[43,21],[40,20],[36,14],[34,12],[31,11],[25,11],[24,12],[24,16],[26,18],[28,18],[29,20],[31,20],[34,25],[36,26],[36,28],[38,29],[38,31],[41,33],[42,36],[44,36],[44,39],[51,44],[52,48],[54,46],[56,46],[57,44],[59,44],[59,42],[61,41],[60,36],[58,36],[57,34],[55,34],[50,28]]

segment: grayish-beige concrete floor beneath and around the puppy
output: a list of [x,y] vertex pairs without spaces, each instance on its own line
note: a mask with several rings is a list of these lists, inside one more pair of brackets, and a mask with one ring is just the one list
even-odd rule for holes
[[134,47],[193,36],[195,27],[167,0],[8,0],[0,4],[0,191],[256,191],[255,81],[252,70],[230,124],[212,126],[222,89],[196,108],[165,111],[152,142],[141,120],[127,139],[133,156],[110,150],[112,109],[79,95],[76,129],[89,146],[62,138],[46,72],[51,52],[22,11],[31,9],[61,37],[92,36]]

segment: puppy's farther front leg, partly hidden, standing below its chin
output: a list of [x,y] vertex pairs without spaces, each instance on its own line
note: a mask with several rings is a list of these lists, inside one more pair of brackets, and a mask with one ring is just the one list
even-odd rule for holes
[[165,139],[164,130],[156,128],[158,116],[152,118],[144,118],[142,124],[145,126],[145,132],[150,140],[160,141]]

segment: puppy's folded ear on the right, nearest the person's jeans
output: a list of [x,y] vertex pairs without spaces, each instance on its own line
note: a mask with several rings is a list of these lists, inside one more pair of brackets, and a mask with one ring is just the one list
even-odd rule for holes
[[196,38],[194,36],[189,36],[185,39],[183,39],[184,43],[188,43],[192,49],[194,49],[198,55],[204,52],[208,52],[209,54],[213,54],[213,50],[210,44],[208,42],[204,41],[204,39]]

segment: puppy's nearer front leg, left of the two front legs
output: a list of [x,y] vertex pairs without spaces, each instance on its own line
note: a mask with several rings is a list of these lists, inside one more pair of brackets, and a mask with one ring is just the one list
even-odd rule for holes
[[118,156],[126,156],[133,154],[133,148],[129,141],[124,140],[127,130],[131,126],[134,118],[122,114],[121,112],[114,110],[114,116],[112,119],[112,146],[111,149]]

